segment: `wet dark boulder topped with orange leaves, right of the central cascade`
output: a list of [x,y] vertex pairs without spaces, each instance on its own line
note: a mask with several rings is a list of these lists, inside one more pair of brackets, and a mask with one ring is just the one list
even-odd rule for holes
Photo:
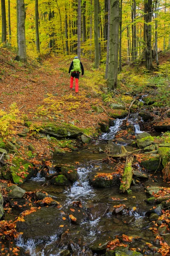
[[89,183],[92,186],[99,188],[107,188],[119,184],[119,175],[116,173],[104,173],[91,172],[89,175]]

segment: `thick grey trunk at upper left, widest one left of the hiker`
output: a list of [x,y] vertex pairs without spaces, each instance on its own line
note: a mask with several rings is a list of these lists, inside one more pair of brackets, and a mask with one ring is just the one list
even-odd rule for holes
[[26,32],[25,32],[25,5],[24,0],[17,0],[17,61],[27,62],[26,59]]

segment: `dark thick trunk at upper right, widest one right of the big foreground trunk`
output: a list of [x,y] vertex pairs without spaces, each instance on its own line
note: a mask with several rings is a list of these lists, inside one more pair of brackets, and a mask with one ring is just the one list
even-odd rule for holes
[[152,0],[147,0],[147,3],[145,3],[146,5],[146,22],[147,22],[147,26],[146,26],[146,44],[147,44],[147,48],[146,48],[146,54],[145,54],[145,58],[146,58],[146,69],[147,70],[153,70],[153,65],[152,65],[152,26],[151,26],[151,22],[152,22]]

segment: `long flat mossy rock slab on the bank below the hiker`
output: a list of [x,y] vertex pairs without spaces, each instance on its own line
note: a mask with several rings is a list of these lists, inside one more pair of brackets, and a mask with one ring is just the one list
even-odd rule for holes
[[77,137],[83,134],[83,130],[75,125],[63,123],[58,125],[56,123],[47,123],[42,125],[41,131],[55,137]]

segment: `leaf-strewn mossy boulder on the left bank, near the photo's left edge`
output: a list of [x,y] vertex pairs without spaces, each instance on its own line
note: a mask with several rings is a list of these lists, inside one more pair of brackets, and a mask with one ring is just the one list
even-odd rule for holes
[[16,166],[10,167],[12,179],[15,184],[22,184],[34,174],[33,165],[28,161],[23,160],[20,157],[14,157],[12,163]]

